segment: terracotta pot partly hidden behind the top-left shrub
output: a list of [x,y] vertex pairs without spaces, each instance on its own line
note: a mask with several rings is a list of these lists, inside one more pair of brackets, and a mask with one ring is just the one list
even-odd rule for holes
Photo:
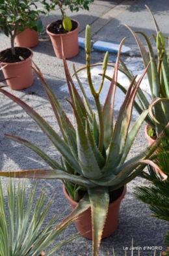
[[38,33],[34,29],[25,29],[21,33],[18,33],[15,38],[16,45],[18,47],[35,47],[39,40],[38,40]]

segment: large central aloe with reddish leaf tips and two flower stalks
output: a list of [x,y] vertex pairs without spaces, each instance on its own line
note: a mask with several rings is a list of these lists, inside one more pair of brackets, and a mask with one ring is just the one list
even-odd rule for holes
[[[96,103],[96,113],[92,110],[88,102],[83,86],[75,71],[75,67],[75,76],[83,94],[83,99],[81,99],[75,88],[72,76],[70,76],[68,71],[66,60],[63,59],[64,71],[70,93],[70,99],[66,98],[66,101],[72,107],[75,126],[71,123],[70,119],[62,109],[62,106],[60,106],[57,97],[45,82],[40,69],[38,69],[36,65],[35,67],[32,67],[42,81],[57,123],[60,127],[62,138],[60,138],[60,135],[58,135],[53,128],[31,108],[31,106],[28,106],[8,91],[0,89],[1,93],[19,104],[19,106],[21,106],[23,110],[38,123],[42,131],[47,135],[51,142],[53,142],[62,155],[60,163],[57,163],[45,152],[42,152],[40,148],[23,138],[5,135],[6,138],[16,140],[38,153],[51,168],[12,172],[1,171],[0,176],[16,176],[17,178],[22,178],[26,175],[27,178],[60,179],[66,186],[70,197],[76,201],[79,200],[79,189],[86,191],[85,196],[79,201],[77,208],[75,208],[74,212],[72,212],[67,219],[80,214],[91,206],[93,255],[98,255],[101,234],[109,206],[109,192],[114,191],[133,180],[141,170],[144,172],[143,169],[146,165],[149,164],[153,165],[153,167],[157,167],[152,161],[153,156],[151,157],[151,154],[159,145],[159,139],[157,139],[153,146],[151,146],[150,150],[145,148],[144,152],[141,152],[126,161],[126,157],[135,140],[135,136],[138,133],[144,118],[148,114],[148,110],[142,112],[129,129],[136,91],[147,69],[138,82],[136,82],[135,86],[133,86],[135,83],[135,78],[133,78],[119,110],[118,118],[116,122],[114,122],[114,95],[116,92],[118,62],[123,41],[124,39],[120,44],[114,74],[110,82],[105,104],[102,107],[99,101],[99,94],[101,89],[103,89],[103,82],[108,63],[108,52],[105,54],[103,61],[101,84],[98,91],[96,91],[90,75],[90,26],[86,26],[86,71],[88,86]],[[164,132],[161,136],[164,136]],[[157,172],[160,172],[163,178],[166,179],[166,175],[163,174],[158,167]]]

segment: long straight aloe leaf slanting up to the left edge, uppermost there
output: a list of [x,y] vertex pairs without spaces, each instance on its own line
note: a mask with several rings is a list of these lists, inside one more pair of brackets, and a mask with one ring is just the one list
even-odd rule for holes
[[66,142],[64,142],[64,140],[62,140],[62,138],[60,138],[60,136],[57,133],[55,133],[53,128],[36,111],[34,111],[29,105],[21,101],[19,98],[15,97],[11,93],[8,93],[8,91],[5,91],[4,89],[0,88],[0,91],[4,95],[12,99],[12,101],[19,104],[19,106],[21,106],[21,108],[23,108],[25,112],[27,112],[27,114],[29,114],[29,116],[31,116],[31,118],[34,121],[36,121],[36,123],[45,133],[45,135],[47,135],[47,137],[51,140],[51,142],[53,142],[55,147],[64,156],[64,158],[68,161],[68,163],[70,163],[70,165],[72,165],[72,167],[75,170],[77,170],[77,172],[81,173],[81,168],[79,167],[79,164],[77,163],[77,161],[75,161],[75,158],[73,157],[68,144],[66,144]]

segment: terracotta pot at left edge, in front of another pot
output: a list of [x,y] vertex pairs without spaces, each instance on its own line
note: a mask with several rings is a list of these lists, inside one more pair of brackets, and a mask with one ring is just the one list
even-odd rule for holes
[[[12,76],[18,76],[16,78],[12,78],[6,80],[7,85],[10,89],[25,89],[29,88],[33,84],[33,72],[32,72],[32,56],[33,52],[31,49],[31,56],[25,61],[20,61],[16,63],[8,63],[8,65],[3,68],[3,74],[5,78],[9,78]],[[1,62],[1,66],[5,66],[7,63]]]

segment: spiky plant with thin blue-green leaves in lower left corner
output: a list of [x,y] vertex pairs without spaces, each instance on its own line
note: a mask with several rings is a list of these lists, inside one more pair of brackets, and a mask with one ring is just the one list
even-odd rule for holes
[[[27,195],[26,179],[16,184],[9,178],[5,192],[0,180],[0,255],[38,256],[51,245],[68,227],[58,224],[59,217],[53,216],[43,228],[45,217],[53,202],[53,196],[47,200],[42,188],[36,199],[37,182],[32,183]],[[46,202],[47,201],[47,202]],[[59,242],[49,249],[45,255],[52,255],[57,249],[75,239],[75,235]]]

